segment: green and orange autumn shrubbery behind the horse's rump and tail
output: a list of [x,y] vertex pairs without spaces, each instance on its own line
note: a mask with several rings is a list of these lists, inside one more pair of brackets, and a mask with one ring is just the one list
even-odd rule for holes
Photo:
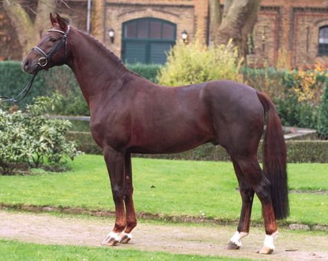
[[318,126],[318,106],[327,73],[320,66],[314,70],[277,70],[242,68],[244,82],[262,90],[275,101],[284,126]]

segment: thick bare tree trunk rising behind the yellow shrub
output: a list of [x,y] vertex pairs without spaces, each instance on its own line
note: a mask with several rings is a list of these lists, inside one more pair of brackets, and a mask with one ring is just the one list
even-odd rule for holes
[[228,43],[229,39],[233,39],[239,55],[246,57],[248,35],[253,32],[261,0],[226,0],[223,14],[220,1],[209,1],[212,42]]

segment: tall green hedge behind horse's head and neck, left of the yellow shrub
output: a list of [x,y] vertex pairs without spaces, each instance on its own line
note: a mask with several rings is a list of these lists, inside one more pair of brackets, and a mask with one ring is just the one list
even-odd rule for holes
[[[127,65],[129,70],[154,82],[156,82],[156,75],[160,67],[160,65],[149,64]],[[0,96],[16,97],[28,84],[31,77],[21,70],[20,61],[0,61]],[[32,102],[33,97],[50,95],[54,91],[64,96],[61,108],[56,110],[57,114],[89,115],[89,108],[84,101],[78,82],[68,66],[40,71],[30,93],[18,104],[19,108],[26,108],[26,105]]]

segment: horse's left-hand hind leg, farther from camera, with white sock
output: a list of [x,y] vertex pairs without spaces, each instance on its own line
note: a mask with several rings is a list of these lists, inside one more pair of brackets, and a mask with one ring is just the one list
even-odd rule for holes
[[250,213],[252,211],[254,190],[250,184],[246,182],[242,170],[233,157],[231,157],[231,160],[239,183],[239,192],[242,196],[242,211],[240,213],[237,231],[228,242],[228,249],[240,249],[240,247],[242,247],[242,238],[246,237],[249,233]]

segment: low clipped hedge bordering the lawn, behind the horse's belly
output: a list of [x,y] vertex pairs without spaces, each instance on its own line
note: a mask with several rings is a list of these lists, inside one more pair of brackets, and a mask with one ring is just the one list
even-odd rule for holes
[[[100,147],[93,142],[91,133],[71,132],[69,140],[78,142],[78,149],[84,153],[102,154]],[[328,141],[322,140],[289,140],[286,141],[288,162],[328,162]],[[135,157],[148,157],[170,160],[230,160],[230,156],[221,146],[204,144],[190,151],[176,154],[149,155],[135,154]],[[262,161],[262,142],[259,147],[258,158]]]

